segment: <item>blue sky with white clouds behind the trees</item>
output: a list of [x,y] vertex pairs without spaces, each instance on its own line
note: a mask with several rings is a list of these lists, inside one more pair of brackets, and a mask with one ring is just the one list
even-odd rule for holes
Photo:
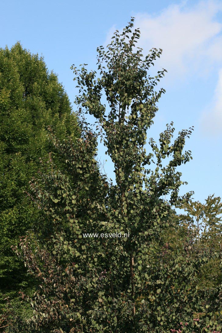
[[[193,160],[178,168],[188,181],[181,194],[194,190],[194,199],[201,202],[209,194],[222,196],[221,1],[3,1],[0,47],[20,41],[42,54],[73,102],[77,91],[70,66],[87,63],[96,69],[97,46],[107,45],[131,16],[140,28],[144,55],[152,47],[162,48],[154,69],[168,71],[160,83],[166,94],[148,138],[158,140],[171,121],[176,134],[194,126],[185,146]],[[101,150],[102,160],[103,154]],[[112,176],[109,161],[105,168]]]

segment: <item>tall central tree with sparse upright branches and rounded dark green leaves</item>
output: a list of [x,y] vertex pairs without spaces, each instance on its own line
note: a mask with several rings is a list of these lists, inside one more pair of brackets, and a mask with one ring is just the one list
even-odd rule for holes
[[[146,154],[146,132],[164,93],[154,88],[164,70],[148,75],[161,50],[143,58],[135,49],[139,30],[131,32],[132,27],[133,19],[121,34],[114,33],[107,51],[98,48],[99,74],[73,67],[80,88],[77,105],[96,118],[99,133],[83,119],[77,141],[52,137],[67,172],[52,162],[50,172],[32,183],[45,220],[41,230],[21,238],[16,252],[38,277],[39,288],[33,299],[22,296],[34,313],[29,321],[17,318],[13,332],[220,330],[220,289],[197,286],[199,269],[213,256],[209,248],[199,248],[192,233],[180,251],[161,244],[172,206],[192,194],[178,195],[182,181],[176,169],[191,158],[183,148],[192,129],[173,141],[173,124],[167,125],[158,145],[149,140]],[[108,184],[98,170],[99,135],[114,164],[115,183]],[[100,237],[84,237],[91,232]]]

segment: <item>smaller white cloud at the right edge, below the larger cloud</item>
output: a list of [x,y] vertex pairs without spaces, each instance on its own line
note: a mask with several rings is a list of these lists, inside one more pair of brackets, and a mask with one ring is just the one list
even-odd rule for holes
[[211,137],[222,134],[222,68],[219,70],[219,78],[212,103],[203,113],[200,123],[205,136]]

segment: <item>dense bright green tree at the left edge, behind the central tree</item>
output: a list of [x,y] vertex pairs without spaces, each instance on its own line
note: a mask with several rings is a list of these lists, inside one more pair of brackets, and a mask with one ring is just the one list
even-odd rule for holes
[[[23,49],[0,49],[0,279],[1,293],[27,286],[24,265],[11,250],[39,213],[25,193],[40,158],[49,159],[51,125],[58,138],[78,136],[76,116],[57,76],[42,57]],[[56,158],[56,157],[55,157]],[[61,161],[58,161],[59,166]]]

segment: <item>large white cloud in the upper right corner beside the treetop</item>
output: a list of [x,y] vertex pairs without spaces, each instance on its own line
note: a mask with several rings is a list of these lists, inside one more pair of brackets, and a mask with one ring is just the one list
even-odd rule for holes
[[170,75],[187,74],[204,64],[207,69],[210,63],[222,60],[222,24],[216,19],[221,10],[221,2],[202,1],[191,8],[186,3],[172,5],[155,16],[136,14],[139,46],[144,54],[151,47],[163,49],[161,66]]

